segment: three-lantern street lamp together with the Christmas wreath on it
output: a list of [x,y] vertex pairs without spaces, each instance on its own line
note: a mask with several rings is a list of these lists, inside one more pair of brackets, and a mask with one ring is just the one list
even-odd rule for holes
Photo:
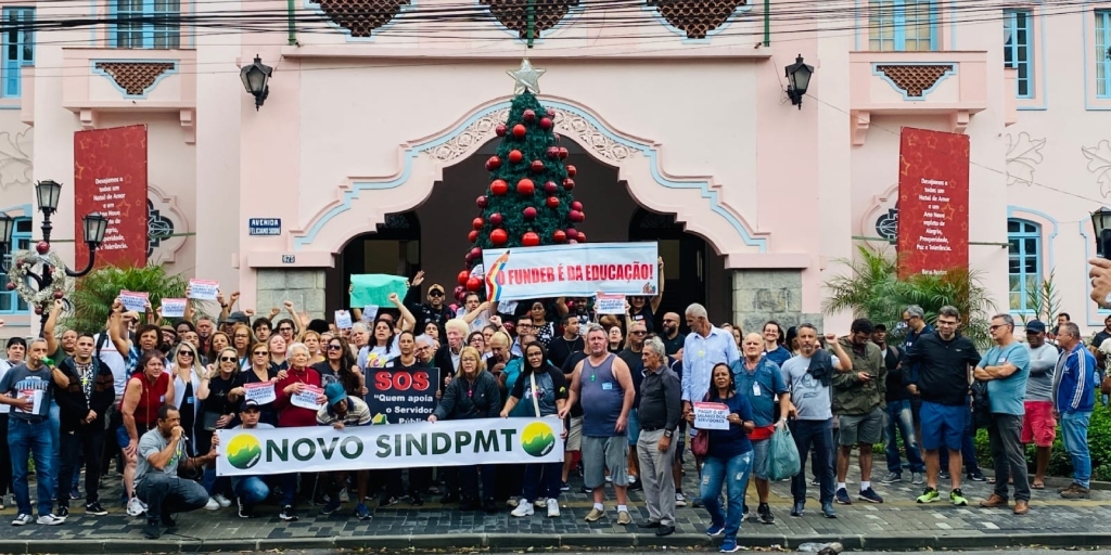
[[[34,306],[34,313],[42,316],[41,326],[47,324],[49,303],[64,296],[64,291],[69,285],[68,279],[81,278],[92,271],[92,266],[97,263],[97,249],[104,242],[104,232],[108,230],[108,219],[103,214],[93,212],[81,219],[82,239],[89,248],[89,262],[81,271],[70,270],[50,250],[50,232],[52,230],[50,216],[58,211],[61,190],[61,183],[53,180],[36,183],[34,192],[39,201],[39,211],[42,212],[42,241],[34,245],[34,253],[13,252],[10,263],[0,264],[10,280],[8,290],[16,291],[23,302]],[[14,246],[11,238],[14,228],[16,220],[0,212],[0,252],[9,252]],[[29,286],[31,283],[34,284],[33,289]]]

